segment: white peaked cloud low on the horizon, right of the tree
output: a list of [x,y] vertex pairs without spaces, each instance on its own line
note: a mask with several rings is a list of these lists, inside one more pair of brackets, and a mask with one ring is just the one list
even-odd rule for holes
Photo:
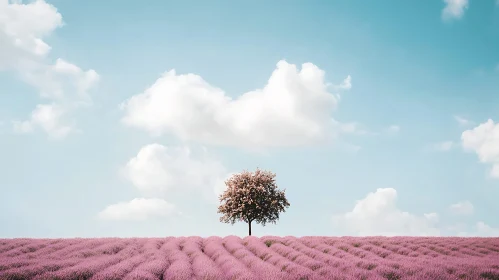
[[397,191],[377,189],[357,201],[352,211],[333,216],[335,229],[347,235],[438,236],[436,213],[417,216],[398,209]]

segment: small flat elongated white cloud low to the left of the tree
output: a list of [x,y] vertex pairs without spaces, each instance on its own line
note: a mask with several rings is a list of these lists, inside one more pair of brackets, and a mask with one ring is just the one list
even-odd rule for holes
[[173,214],[175,206],[159,198],[135,198],[107,206],[98,217],[103,220],[146,220]]

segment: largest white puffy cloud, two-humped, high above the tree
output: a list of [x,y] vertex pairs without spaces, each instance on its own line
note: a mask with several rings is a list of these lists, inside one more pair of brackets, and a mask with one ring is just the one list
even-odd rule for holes
[[324,71],[312,63],[299,70],[286,61],[263,89],[236,99],[198,75],[171,70],[150,88],[121,104],[123,122],[153,135],[171,133],[184,141],[248,149],[300,146],[334,138],[341,132],[331,118],[338,98]]

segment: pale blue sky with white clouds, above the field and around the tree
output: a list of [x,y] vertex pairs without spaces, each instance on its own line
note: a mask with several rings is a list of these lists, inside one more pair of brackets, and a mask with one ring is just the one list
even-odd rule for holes
[[498,122],[494,0],[0,0],[0,238],[499,236]]

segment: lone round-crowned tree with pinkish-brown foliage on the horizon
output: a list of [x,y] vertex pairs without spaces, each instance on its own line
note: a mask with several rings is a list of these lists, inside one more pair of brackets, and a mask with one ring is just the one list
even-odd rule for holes
[[220,222],[243,221],[248,223],[251,235],[251,222],[265,226],[275,224],[279,212],[285,212],[289,202],[284,190],[278,190],[275,174],[257,169],[255,172],[243,171],[225,181],[227,189],[219,196],[218,213],[223,214]]

